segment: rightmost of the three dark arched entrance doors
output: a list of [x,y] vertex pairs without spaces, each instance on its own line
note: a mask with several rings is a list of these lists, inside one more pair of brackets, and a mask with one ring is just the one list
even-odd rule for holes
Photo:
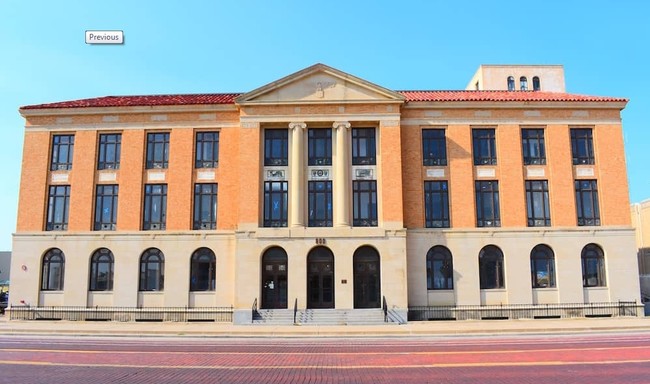
[[372,247],[354,252],[354,307],[380,308],[379,254]]

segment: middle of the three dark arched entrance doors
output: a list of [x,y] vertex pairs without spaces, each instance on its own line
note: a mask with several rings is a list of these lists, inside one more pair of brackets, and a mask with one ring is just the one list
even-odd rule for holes
[[307,255],[307,308],[334,308],[334,255],[325,247]]

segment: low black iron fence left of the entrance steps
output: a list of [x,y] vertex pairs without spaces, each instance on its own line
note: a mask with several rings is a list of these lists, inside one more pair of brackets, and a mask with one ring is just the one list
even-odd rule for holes
[[29,307],[7,309],[10,320],[232,322],[233,307]]

